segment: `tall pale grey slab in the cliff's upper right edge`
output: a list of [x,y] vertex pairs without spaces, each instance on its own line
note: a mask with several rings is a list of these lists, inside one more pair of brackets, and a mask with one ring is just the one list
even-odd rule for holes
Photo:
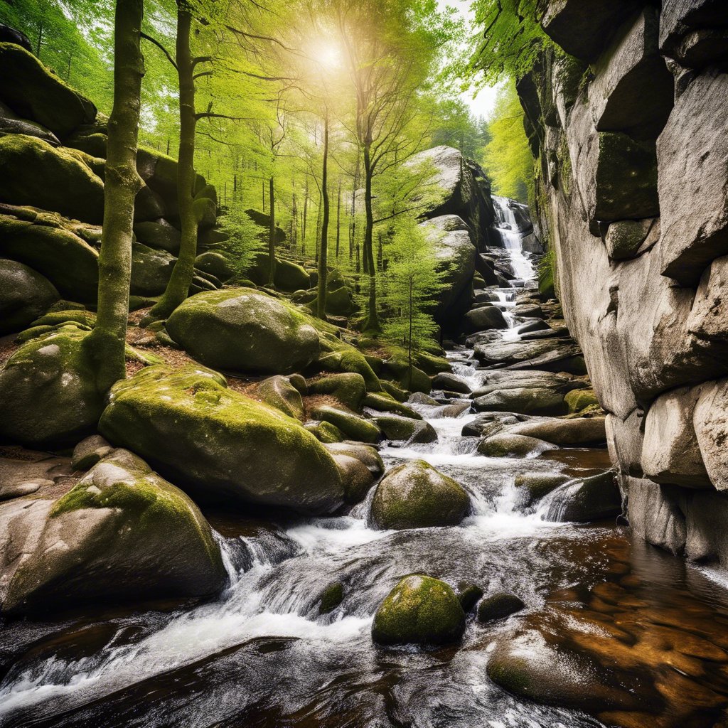
[[697,76],[657,141],[662,274],[680,285],[696,285],[713,258],[728,253],[727,94],[727,74]]

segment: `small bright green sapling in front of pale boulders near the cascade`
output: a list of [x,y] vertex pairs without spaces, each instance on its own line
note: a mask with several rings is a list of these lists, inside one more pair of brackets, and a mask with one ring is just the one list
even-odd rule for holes
[[438,325],[430,309],[436,296],[445,288],[447,271],[438,266],[436,242],[428,237],[416,218],[403,215],[397,219],[392,236],[389,265],[384,272],[384,306],[387,320],[384,337],[408,351],[412,368],[412,352],[436,344]]

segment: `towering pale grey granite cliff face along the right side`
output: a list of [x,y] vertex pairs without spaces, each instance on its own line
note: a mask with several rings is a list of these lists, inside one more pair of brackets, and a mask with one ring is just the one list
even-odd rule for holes
[[589,73],[545,51],[518,92],[630,524],[728,566],[728,9],[655,6],[550,0],[545,31]]

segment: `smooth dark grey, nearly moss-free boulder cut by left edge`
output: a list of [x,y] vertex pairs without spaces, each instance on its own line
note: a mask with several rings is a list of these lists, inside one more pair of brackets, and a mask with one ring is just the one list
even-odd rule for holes
[[55,285],[40,273],[0,260],[0,336],[22,331],[59,298]]

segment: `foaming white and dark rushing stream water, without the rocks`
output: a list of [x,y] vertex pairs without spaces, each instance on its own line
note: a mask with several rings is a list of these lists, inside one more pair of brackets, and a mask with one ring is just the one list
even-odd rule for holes
[[[513,224],[507,212],[504,216],[502,224]],[[520,272],[529,285],[531,261],[520,248],[508,250],[514,266],[521,266],[517,255],[526,261]],[[515,290],[501,293],[506,308],[513,304]],[[512,323],[505,336],[517,337],[518,322]],[[448,356],[454,373],[475,389],[483,372],[472,352]],[[712,620],[728,624],[724,586],[712,574],[632,545],[623,526],[555,523],[545,510],[519,505],[518,473],[589,472],[608,467],[605,451],[530,459],[479,456],[478,438],[461,435],[474,414],[443,416],[442,405],[416,408],[438,432],[437,443],[385,443],[381,455],[387,467],[424,459],[458,480],[472,500],[472,513],[460,526],[373,530],[367,523],[372,493],[337,518],[272,521],[207,514],[229,571],[226,591],[215,601],[185,608],[6,625],[0,724],[600,726],[593,717],[518,700],[496,687],[486,665],[499,634],[565,590],[586,593],[610,579],[683,610],[686,620],[697,619],[700,609],[700,618],[707,619],[707,609]],[[474,582],[486,593],[512,591],[526,610],[489,625],[469,619],[458,646],[434,652],[380,649],[371,640],[373,614],[397,580],[413,571],[452,585]],[[625,573],[633,577],[631,586]],[[320,615],[318,599],[334,581],[344,585],[344,601]],[[643,626],[649,629],[649,619]]]

